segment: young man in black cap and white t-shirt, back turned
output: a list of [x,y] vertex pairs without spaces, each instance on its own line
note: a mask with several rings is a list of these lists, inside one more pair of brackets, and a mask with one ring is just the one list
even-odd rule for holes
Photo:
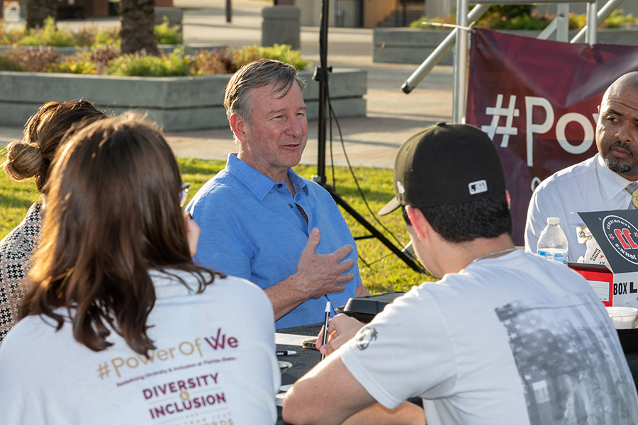
[[394,186],[380,214],[401,208],[416,254],[442,279],[366,326],[332,319],[320,348],[330,355],[289,391],[286,421],[341,424],[382,410],[375,402],[421,397],[428,425],[638,424],[617,332],[589,284],[515,249],[485,133],[439,123],[410,137]]

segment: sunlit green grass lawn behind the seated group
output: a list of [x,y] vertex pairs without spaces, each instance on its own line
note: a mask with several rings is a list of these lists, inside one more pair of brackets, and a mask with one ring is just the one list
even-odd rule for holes
[[[4,158],[5,149],[0,149],[0,157]],[[224,161],[201,160],[201,159],[178,159],[182,173],[182,179],[191,183],[189,198],[196,191],[211,179],[220,169],[223,169]],[[316,167],[299,165],[295,167],[298,174],[310,179],[316,173]],[[332,173],[328,174],[328,183],[332,184]],[[393,197],[392,170],[375,169],[369,167],[355,167],[354,174],[359,180],[369,207],[376,212]],[[349,205],[357,210],[374,227],[384,232],[388,239],[394,240],[390,233],[382,229],[373,215],[367,210],[364,201],[359,195],[357,186],[352,179],[352,175],[346,167],[335,167],[335,186],[337,193],[344,198]],[[0,173],[0,239],[16,227],[22,220],[30,205],[38,199],[38,191],[32,181],[27,183],[14,183],[6,178],[4,173]],[[367,230],[343,212],[354,237],[365,236]],[[410,241],[408,232],[405,229],[403,218],[400,212],[393,212],[384,217],[378,217],[381,223],[392,232],[396,239],[396,245],[404,246]],[[362,239],[357,241],[359,249],[359,268],[361,270],[364,285],[370,293],[383,293],[392,290],[409,290],[413,285],[418,285],[423,280],[432,280],[432,277],[416,273],[405,265],[403,261],[394,256],[377,239]]]

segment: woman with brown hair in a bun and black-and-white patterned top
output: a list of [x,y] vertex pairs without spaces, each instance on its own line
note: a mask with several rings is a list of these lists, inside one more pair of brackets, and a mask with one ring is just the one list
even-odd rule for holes
[[23,297],[16,288],[29,272],[33,252],[40,243],[45,183],[53,157],[65,137],[103,118],[106,114],[87,101],[47,102],[27,121],[23,139],[11,142],[6,149],[4,174],[13,181],[33,178],[40,199],[0,242],[0,343],[16,323],[17,306]]

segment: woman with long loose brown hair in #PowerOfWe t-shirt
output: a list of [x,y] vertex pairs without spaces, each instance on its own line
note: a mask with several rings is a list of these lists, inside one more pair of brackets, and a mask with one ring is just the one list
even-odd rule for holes
[[274,424],[272,306],[196,266],[174,155],[137,115],[53,166],[25,316],[0,348],[2,424]]

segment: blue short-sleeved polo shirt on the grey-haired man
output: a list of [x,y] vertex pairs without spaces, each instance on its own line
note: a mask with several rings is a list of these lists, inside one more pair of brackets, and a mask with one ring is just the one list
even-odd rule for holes
[[[357,244],[330,193],[317,183],[288,170],[296,195],[252,166],[228,155],[226,167],[209,180],[189,203],[201,227],[195,261],[223,273],[268,288],[296,272],[308,234],[317,227],[321,240],[315,252],[330,254],[344,245],[354,248],[348,273],[354,279],[341,293],[311,298],[277,320],[277,329],[323,322],[325,302],[345,305],[361,285]],[[295,203],[308,215],[308,224]],[[334,314],[334,312],[332,312]]]

